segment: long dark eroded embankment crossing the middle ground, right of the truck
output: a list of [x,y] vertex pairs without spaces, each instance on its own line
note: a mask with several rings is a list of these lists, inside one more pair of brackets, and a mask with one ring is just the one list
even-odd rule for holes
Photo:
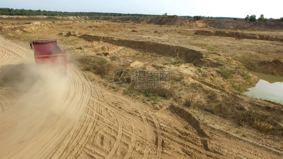
[[[68,33],[66,36],[76,36]],[[150,41],[135,41],[135,40],[125,40],[114,37],[103,37],[97,35],[88,35],[84,34],[79,36],[86,41],[103,41],[106,43],[130,47],[133,49],[143,49],[151,52],[161,54],[163,56],[177,57],[185,62],[197,63],[200,59],[203,58],[200,51],[189,49],[181,46],[172,46],[167,44],[160,44]]]

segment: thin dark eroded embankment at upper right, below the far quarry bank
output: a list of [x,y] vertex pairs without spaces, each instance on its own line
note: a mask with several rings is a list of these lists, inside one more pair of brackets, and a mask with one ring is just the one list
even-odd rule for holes
[[283,38],[281,37],[273,37],[269,35],[260,35],[260,34],[242,33],[242,32],[197,30],[194,33],[194,35],[223,36],[223,37],[233,37],[233,38],[239,38],[239,39],[257,39],[257,40],[269,40],[269,41],[283,42]]

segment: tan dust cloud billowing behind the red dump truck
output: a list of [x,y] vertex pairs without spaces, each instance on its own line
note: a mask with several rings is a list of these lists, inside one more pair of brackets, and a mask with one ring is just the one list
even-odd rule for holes
[[0,113],[0,158],[26,153],[21,151],[40,145],[37,142],[65,122],[76,122],[72,117],[75,112],[69,111],[66,101],[69,78],[64,72],[52,65],[39,68],[35,64],[4,65],[0,69],[0,87],[14,96],[14,102]]

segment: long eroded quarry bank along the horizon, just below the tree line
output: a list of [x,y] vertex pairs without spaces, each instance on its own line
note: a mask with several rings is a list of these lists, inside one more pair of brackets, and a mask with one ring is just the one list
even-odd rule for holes
[[122,23],[147,23],[156,25],[182,25],[198,27],[212,27],[219,29],[256,29],[256,30],[281,30],[282,22],[246,22],[232,20],[201,20],[196,21],[192,18],[182,18],[178,16],[159,16],[159,17],[104,17],[104,16],[0,16],[4,20],[50,20],[50,21],[112,21]]

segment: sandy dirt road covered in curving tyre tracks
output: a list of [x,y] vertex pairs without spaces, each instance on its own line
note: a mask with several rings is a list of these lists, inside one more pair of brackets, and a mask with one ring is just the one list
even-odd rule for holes
[[[0,37],[1,67],[32,62],[32,50]],[[280,158],[174,108],[154,112],[110,93],[94,77],[69,65],[66,78],[41,89],[1,88],[0,158]]]

